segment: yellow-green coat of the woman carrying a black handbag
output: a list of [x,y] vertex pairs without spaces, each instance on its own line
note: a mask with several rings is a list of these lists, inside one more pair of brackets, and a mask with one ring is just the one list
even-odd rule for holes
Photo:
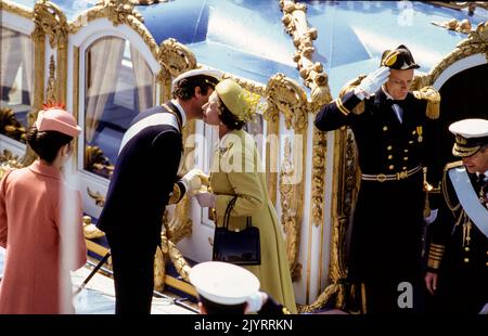
[[265,171],[255,140],[244,130],[227,133],[215,148],[210,185],[216,197],[217,224],[223,224],[229,202],[237,195],[229,229],[243,229],[246,217],[259,229],[261,264],[246,266],[260,281],[261,290],[296,313],[290,264],[282,228],[268,196]]

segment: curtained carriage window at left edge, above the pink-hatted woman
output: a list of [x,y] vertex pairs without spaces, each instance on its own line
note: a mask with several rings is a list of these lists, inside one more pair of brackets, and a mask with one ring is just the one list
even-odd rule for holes
[[29,36],[0,27],[0,133],[25,142],[33,103],[33,43]]

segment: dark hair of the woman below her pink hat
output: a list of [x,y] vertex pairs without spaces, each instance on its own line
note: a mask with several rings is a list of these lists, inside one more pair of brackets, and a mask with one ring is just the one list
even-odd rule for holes
[[60,148],[73,140],[73,137],[57,131],[39,132],[36,126],[29,127],[26,138],[33,151],[49,164],[56,158]]

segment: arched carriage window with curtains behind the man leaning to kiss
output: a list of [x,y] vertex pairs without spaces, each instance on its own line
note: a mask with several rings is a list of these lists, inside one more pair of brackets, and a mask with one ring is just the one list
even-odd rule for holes
[[86,51],[85,169],[111,178],[124,132],[154,105],[154,75],[129,41],[108,37]]

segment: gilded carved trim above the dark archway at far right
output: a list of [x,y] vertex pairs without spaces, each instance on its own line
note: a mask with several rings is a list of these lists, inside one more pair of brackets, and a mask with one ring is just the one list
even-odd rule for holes
[[458,43],[455,49],[431,70],[426,85],[433,85],[450,65],[477,53],[485,54],[488,62],[488,22],[479,24],[476,30],[470,33],[466,39]]

